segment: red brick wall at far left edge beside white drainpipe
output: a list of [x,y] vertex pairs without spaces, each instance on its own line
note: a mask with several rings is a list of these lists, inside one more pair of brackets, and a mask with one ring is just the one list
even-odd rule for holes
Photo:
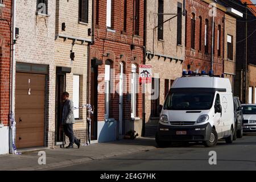
[[11,0],[3,3],[5,7],[0,7],[0,19],[5,19],[0,20],[0,122],[7,125],[10,110]]

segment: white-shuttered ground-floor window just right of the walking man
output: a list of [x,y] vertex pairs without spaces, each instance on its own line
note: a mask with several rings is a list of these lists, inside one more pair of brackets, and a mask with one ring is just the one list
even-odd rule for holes
[[[79,98],[80,98],[80,76],[73,75],[73,104],[74,107],[79,108]],[[79,119],[80,110],[74,109],[74,117],[75,119]]]

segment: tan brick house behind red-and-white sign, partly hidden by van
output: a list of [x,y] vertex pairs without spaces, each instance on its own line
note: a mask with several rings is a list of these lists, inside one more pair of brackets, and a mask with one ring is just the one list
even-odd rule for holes
[[156,132],[158,106],[163,105],[172,82],[182,73],[185,59],[185,16],[182,13],[182,0],[147,1],[146,64],[152,66],[153,78],[152,83],[146,85],[152,93],[145,94],[145,135]]

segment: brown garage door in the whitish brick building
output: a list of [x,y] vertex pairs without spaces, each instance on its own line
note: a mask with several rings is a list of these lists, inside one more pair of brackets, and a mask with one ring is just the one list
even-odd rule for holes
[[16,147],[44,146],[46,76],[16,73]]

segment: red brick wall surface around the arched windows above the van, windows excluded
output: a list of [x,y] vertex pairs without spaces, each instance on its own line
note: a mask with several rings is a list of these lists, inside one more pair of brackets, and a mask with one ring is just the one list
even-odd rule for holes
[[[191,71],[199,69],[199,72],[205,70],[210,71],[211,67],[211,49],[212,49],[212,16],[209,16],[209,4],[200,0],[187,0],[187,46],[185,48],[185,61],[183,64],[183,69],[187,69],[187,65],[191,65]],[[191,49],[191,14],[196,15],[196,28],[195,28],[195,49]],[[202,17],[202,28],[201,28],[201,51],[199,51],[199,40],[200,40],[200,19]],[[214,61],[213,61],[213,71],[215,75],[221,75],[223,72],[223,42],[224,42],[224,23],[222,23],[222,18],[224,18],[224,12],[217,9],[217,16],[214,17],[215,22],[215,46],[214,46]],[[205,19],[209,20],[209,35],[208,35],[208,54],[205,54],[204,47],[204,32],[205,32]],[[221,25],[221,56],[218,56],[217,51],[217,31],[218,25]]]

